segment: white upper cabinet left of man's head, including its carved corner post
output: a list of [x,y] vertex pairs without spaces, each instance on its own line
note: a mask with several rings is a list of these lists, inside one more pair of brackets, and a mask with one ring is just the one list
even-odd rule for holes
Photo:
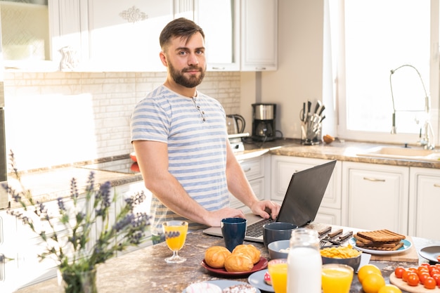
[[166,70],[159,35],[173,0],[51,0],[49,9],[53,60],[63,70]]

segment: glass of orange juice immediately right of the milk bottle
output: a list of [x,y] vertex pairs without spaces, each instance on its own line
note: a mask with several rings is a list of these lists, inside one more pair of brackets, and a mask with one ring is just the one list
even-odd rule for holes
[[323,265],[323,293],[349,293],[354,270],[351,266],[340,263]]

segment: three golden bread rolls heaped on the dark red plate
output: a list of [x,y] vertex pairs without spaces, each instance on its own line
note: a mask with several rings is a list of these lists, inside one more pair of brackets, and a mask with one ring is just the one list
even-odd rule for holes
[[228,272],[247,272],[260,260],[261,252],[254,245],[238,245],[233,252],[221,246],[209,247],[205,263],[212,268],[225,268]]

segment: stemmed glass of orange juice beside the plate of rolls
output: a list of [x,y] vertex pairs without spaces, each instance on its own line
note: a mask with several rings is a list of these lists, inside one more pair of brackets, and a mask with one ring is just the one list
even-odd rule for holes
[[179,250],[182,249],[188,233],[188,222],[186,221],[167,221],[162,223],[164,229],[165,241],[168,248],[172,250],[173,255],[165,259],[167,263],[183,263],[186,258],[179,256]]

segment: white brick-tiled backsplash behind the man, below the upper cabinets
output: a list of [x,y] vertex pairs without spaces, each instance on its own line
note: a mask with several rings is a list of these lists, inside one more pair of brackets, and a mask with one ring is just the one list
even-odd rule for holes
[[[19,170],[133,151],[129,116],[166,73],[6,72],[6,150]],[[199,91],[240,110],[240,72],[207,72]]]

